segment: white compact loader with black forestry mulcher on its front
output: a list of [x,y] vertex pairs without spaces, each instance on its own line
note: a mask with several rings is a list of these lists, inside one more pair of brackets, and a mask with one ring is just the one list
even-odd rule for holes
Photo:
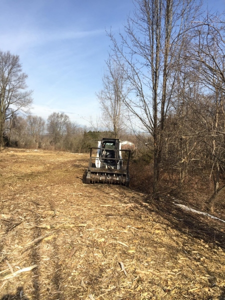
[[[92,155],[92,150],[95,155]],[[122,152],[126,158],[122,158]],[[117,138],[102,138],[98,147],[90,148],[86,183],[108,183],[129,186],[130,150],[122,150]]]

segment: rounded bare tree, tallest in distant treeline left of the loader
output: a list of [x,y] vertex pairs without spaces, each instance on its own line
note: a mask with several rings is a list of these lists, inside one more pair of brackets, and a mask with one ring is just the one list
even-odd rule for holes
[[47,118],[47,130],[52,136],[52,143],[57,144],[67,132],[70,120],[64,112],[53,112]]

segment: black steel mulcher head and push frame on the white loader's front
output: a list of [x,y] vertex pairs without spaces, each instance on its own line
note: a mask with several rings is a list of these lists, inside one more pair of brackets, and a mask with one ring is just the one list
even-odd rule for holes
[[[97,149],[97,152],[102,152],[102,156],[93,156],[92,149]],[[113,157],[108,158],[105,155],[105,150],[114,153]],[[126,158],[122,158],[119,153],[126,152]],[[129,157],[130,150],[125,149],[106,149],[103,147],[90,148],[90,159],[86,175],[86,183],[107,183],[107,184],[120,184],[129,186]],[[96,167],[95,162],[99,160],[100,167]],[[114,165],[117,168],[111,167],[110,164],[115,161]]]

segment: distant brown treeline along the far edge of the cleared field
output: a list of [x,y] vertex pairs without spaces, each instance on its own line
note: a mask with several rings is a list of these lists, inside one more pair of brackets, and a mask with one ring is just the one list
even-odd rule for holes
[[[89,148],[96,147],[97,140],[105,136],[112,137],[113,133],[80,126],[63,112],[51,113],[46,121],[37,115],[22,117],[15,114],[5,122],[3,131],[4,145],[8,147],[71,152],[89,152]],[[120,137],[134,139],[125,131]]]

